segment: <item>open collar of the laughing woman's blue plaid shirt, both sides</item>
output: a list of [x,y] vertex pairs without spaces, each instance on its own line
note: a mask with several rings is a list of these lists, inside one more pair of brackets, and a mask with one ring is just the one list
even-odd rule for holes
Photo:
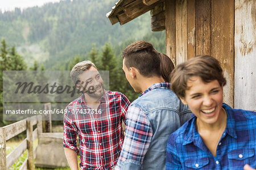
[[[233,111],[232,108],[225,103],[222,104],[222,107],[226,110],[227,114],[227,123],[226,123],[226,129],[224,133],[229,134],[233,138],[237,138],[236,134],[236,121],[233,117]],[[222,137],[224,137],[223,135]],[[185,130],[183,145],[194,143],[196,146],[200,148],[204,148],[205,145],[203,143],[203,140],[200,137],[199,132],[196,130],[196,116],[192,114],[191,119],[188,121],[187,129]]]

